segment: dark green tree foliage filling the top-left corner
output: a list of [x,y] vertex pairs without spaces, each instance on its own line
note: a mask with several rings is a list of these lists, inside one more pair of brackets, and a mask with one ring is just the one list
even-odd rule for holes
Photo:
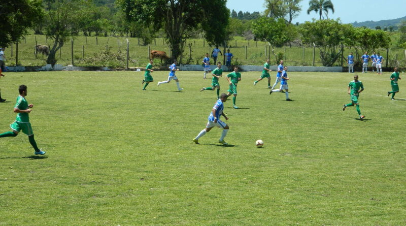
[[43,10],[40,0],[2,0],[0,4],[0,46],[8,47],[26,34]]

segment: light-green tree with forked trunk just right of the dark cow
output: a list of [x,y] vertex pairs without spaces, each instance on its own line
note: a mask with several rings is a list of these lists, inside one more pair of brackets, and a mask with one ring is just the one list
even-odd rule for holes
[[77,15],[80,14],[79,0],[44,0],[45,34],[53,40],[52,47],[49,50],[47,63],[56,63],[55,54],[69,40],[76,30],[73,30],[74,24],[78,23]]

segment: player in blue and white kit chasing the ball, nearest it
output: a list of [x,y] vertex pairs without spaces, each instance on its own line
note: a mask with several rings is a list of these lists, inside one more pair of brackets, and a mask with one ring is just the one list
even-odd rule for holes
[[221,93],[220,99],[216,101],[216,104],[214,104],[212,112],[210,112],[209,115],[209,121],[207,122],[206,128],[197,135],[196,138],[193,139],[193,142],[196,144],[199,144],[199,138],[204,136],[206,133],[208,133],[214,126],[223,128],[223,132],[221,133],[221,137],[219,140],[220,144],[228,145],[224,141],[224,137],[227,135],[228,132],[228,125],[224,123],[223,121],[220,120],[221,116],[224,116],[225,120],[228,120],[228,117],[224,114],[223,109],[224,109],[224,102],[227,101],[227,94]]

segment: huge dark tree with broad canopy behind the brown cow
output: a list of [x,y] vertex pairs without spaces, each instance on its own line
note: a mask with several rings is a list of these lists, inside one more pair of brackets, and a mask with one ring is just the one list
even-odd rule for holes
[[[225,0],[117,0],[128,20],[163,26],[172,58],[182,54],[189,30],[201,27],[210,44],[223,45],[230,12]],[[210,7],[208,7],[210,6]]]

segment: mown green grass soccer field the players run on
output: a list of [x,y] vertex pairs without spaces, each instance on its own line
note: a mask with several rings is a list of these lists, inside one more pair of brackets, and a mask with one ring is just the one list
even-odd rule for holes
[[156,86],[168,72],[147,91],[143,72],[5,74],[0,133],[25,84],[47,154],[22,133],[0,138],[0,225],[406,224],[406,86],[391,101],[390,73],[358,74],[361,121],[342,110],[354,74],[288,72],[287,102],[242,72],[241,109],[224,108],[228,146],[217,127],[192,142],[217,96],[200,92],[202,72],[177,72],[182,92]]

